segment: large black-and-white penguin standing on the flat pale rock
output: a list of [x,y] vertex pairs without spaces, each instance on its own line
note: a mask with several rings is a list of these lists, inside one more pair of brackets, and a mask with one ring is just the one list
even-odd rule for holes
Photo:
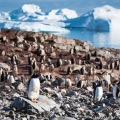
[[28,82],[28,98],[32,102],[37,102],[37,98],[39,97],[39,90],[40,90],[40,80],[38,75],[34,73]]

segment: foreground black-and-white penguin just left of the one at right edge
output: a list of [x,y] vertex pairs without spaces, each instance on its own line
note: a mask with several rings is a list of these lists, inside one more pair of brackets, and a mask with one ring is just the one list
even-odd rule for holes
[[94,95],[93,98],[95,101],[100,101],[103,96],[102,81],[93,82]]

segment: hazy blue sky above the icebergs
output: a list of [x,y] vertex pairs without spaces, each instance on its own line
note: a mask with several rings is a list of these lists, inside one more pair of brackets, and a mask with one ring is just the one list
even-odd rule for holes
[[73,9],[79,16],[104,5],[120,9],[120,0],[0,0],[0,11],[16,10],[23,4],[36,4],[42,12],[61,8]]

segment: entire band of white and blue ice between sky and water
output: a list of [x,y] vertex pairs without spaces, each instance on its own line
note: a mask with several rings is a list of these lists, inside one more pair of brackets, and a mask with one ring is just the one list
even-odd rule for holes
[[34,32],[69,33],[67,28],[87,28],[100,31],[120,30],[120,9],[109,5],[94,8],[81,15],[67,8],[44,13],[34,4],[24,4],[17,10],[0,12],[0,28]]

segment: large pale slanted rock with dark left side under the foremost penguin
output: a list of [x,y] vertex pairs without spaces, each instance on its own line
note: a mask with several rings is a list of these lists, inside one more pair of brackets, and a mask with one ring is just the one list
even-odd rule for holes
[[11,104],[11,108],[16,108],[16,110],[22,110],[26,109],[28,105],[31,105],[34,109],[36,109],[39,112],[44,112],[44,111],[50,111],[50,109],[54,107],[58,107],[59,105],[56,104],[53,100],[49,99],[48,97],[44,95],[40,95],[38,98],[37,103],[33,103],[31,100],[23,98],[23,97],[18,97],[13,101]]

